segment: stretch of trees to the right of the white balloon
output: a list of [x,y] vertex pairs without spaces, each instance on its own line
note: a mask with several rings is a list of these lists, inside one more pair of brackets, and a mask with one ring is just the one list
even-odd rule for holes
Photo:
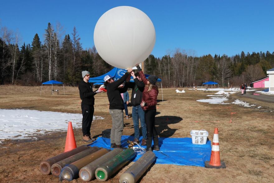
[[238,87],[266,77],[274,67],[274,52],[244,53],[233,56],[195,56],[194,51],[175,49],[162,58],[149,55],[145,60],[145,72],[162,78],[165,87],[201,86],[215,81],[223,87]]

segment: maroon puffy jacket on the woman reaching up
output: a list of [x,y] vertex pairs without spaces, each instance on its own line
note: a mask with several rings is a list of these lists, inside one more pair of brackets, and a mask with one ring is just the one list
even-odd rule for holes
[[[143,71],[139,71],[139,75],[144,84],[147,84],[148,79],[146,79]],[[152,87],[150,91],[148,91],[148,87],[144,87],[142,101],[144,101],[147,104],[147,106],[142,107],[143,110],[156,109],[157,96],[159,93],[158,88],[156,87]]]

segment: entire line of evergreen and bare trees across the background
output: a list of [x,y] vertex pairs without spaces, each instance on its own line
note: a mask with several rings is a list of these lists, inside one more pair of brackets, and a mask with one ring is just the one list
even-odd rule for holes
[[[64,34],[57,23],[48,23],[45,34],[35,34],[31,44],[19,45],[18,33],[1,27],[0,83],[38,85],[48,80],[58,80],[76,86],[81,72],[88,70],[91,77],[105,74],[113,67],[97,53],[95,46],[83,50],[76,28]],[[162,58],[154,55],[144,61],[145,73],[158,75],[163,87],[186,87],[215,81],[223,87],[239,86],[266,76],[274,67],[274,52],[244,53],[233,56],[196,56],[194,51],[175,49]]]

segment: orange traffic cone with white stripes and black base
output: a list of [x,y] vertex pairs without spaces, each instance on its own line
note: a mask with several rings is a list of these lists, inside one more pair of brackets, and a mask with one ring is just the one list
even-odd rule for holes
[[224,161],[220,160],[218,128],[214,129],[210,161],[205,161],[205,168],[225,168]]

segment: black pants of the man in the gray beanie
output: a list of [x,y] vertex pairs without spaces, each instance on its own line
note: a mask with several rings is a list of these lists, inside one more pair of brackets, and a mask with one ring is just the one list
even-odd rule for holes
[[82,120],[82,132],[83,136],[90,135],[90,127],[93,119],[94,106],[81,104],[83,120]]

